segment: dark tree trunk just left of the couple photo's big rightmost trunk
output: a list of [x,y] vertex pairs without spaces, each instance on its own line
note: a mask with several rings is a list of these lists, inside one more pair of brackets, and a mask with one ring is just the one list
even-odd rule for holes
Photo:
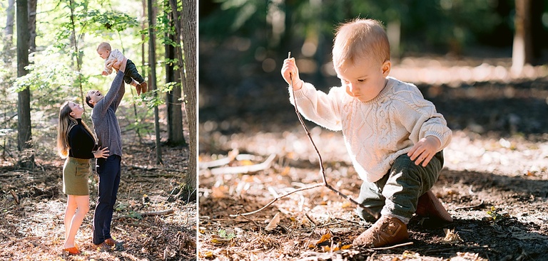
[[[177,2],[170,0],[166,1],[166,9],[170,9],[171,12],[166,14],[169,26],[176,28],[175,33],[166,33],[166,38],[171,39],[175,46],[166,44],[166,60],[183,60],[181,54],[181,33],[177,28],[181,28],[181,14],[177,11]],[[178,46],[178,50],[176,50]],[[166,93],[166,105],[168,109],[168,144],[173,146],[186,145],[185,137],[183,135],[183,107],[181,106],[181,68],[175,69],[173,63],[166,63],[166,83],[176,82],[171,92]]]

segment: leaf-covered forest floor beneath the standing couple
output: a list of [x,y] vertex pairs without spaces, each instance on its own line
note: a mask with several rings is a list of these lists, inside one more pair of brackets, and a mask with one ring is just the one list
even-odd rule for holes
[[188,147],[163,147],[161,166],[151,156],[155,155],[151,144],[126,139],[111,228],[113,238],[123,241],[123,249],[98,252],[93,247],[98,181],[93,173],[90,211],[76,235],[82,255],[61,254],[64,160],[38,155],[31,170],[14,168],[12,159],[0,161],[0,260],[196,260],[196,201],[186,203],[186,198],[170,195],[187,174]]

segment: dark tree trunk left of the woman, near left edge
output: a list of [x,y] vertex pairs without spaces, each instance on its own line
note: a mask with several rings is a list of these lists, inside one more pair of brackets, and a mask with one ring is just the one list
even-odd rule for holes
[[[17,77],[27,74],[29,65],[29,6],[26,0],[16,1],[17,14]],[[34,166],[31,132],[31,90],[26,87],[17,94],[17,149],[21,152],[19,166]]]

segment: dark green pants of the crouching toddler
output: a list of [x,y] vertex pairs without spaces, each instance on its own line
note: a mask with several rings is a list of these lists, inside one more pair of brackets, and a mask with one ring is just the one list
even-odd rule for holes
[[417,210],[419,197],[436,183],[442,166],[443,151],[437,152],[426,167],[415,165],[407,154],[398,156],[380,180],[362,183],[357,202],[363,203],[376,216],[360,207],[356,209],[357,215],[367,221],[374,221],[380,215],[392,215],[404,218],[407,223]]

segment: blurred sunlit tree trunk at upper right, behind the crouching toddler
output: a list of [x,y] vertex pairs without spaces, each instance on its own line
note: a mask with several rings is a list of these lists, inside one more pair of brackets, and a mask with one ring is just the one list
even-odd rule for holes
[[512,73],[522,73],[525,64],[532,63],[533,46],[531,36],[531,0],[515,0],[516,16],[514,45],[512,46]]

